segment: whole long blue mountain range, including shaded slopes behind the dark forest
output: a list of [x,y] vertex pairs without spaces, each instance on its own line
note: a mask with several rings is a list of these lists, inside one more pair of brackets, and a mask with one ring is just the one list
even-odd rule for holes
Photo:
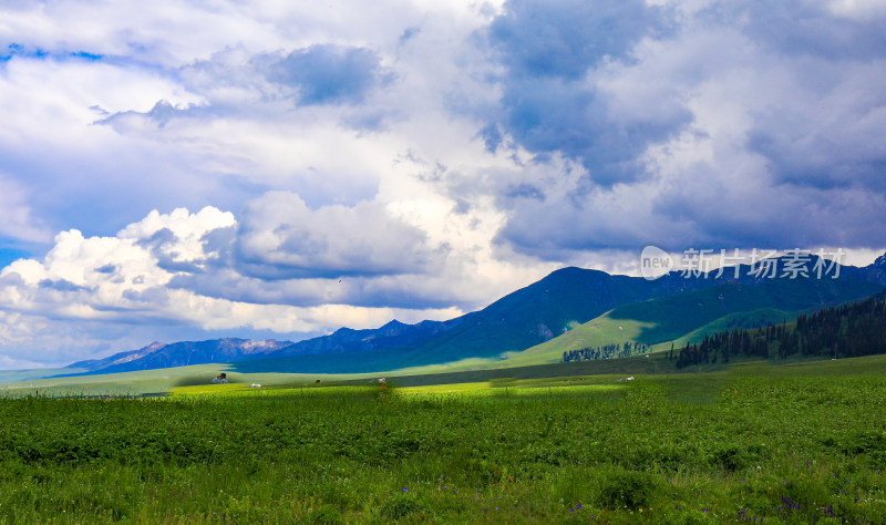
[[[748,271],[746,266],[740,267],[738,278],[732,269],[727,269],[720,276],[713,271],[687,277],[672,271],[656,280],[569,267],[482,310],[446,321],[406,325],[392,320],[377,329],[341,328],[299,342],[231,338],[154,342],[68,368],[72,372],[78,369],[85,371],[81,373],[112,373],[238,362],[238,370],[244,372],[367,372],[467,358],[519,357],[521,352],[535,356],[539,354],[539,346],[548,348],[542,353],[549,362],[552,356],[566,348],[565,341],[571,341],[570,348],[583,342],[578,334],[593,332],[585,325],[601,316],[619,320],[619,327],[627,320],[646,326],[646,332],[630,334],[655,344],[678,339],[736,312],[770,308],[777,309],[779,315],[795,315],[862,299],[886,286],[886,255],[867,267],[841,266],[836,279],[814,278],[815,261],[813,257],[804,264],[810,277],[799,279],[766,278]],[[709,289],[710,292],[704,291]],[[599,321],[595,322],[599,326]],[[569,333],[577,328],[581,329]],[[599,337],[590,340],[597,341]]]

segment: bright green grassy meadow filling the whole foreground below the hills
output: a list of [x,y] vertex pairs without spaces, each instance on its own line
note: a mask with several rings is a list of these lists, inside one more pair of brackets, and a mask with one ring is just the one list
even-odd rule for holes
[[0,399],[0,521],[886,521],[886,358],[636,378]]

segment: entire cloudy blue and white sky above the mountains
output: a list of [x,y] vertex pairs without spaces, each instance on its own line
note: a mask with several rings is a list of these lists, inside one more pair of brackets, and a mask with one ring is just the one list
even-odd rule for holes
[[0,1],[0,368],[886,250],[883,0]]

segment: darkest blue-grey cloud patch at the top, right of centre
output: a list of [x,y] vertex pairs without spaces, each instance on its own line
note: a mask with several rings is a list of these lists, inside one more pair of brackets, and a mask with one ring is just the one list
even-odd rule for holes
[[[598,184],[641,177],[637,156],[690,115],[661,122],[612,114],[595,76],[612,61],[629,63],[633,45],[666,33],[666,22],[642,1],[508,2],[487,35],[506,69],[497,124],[534,153],[580,162]],[[491,152],[501,143],[495,124],[483,135]]]

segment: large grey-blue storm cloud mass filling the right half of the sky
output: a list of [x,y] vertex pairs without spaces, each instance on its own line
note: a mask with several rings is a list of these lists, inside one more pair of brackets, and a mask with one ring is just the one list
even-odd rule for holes
[[495,152],[504,133],[536,157],[490,183],[507,210],[497,243],[547,260],[645,244],[883,246],[886,19],[849,14],[508,2],[487,33],[499,114],[480,138]]

